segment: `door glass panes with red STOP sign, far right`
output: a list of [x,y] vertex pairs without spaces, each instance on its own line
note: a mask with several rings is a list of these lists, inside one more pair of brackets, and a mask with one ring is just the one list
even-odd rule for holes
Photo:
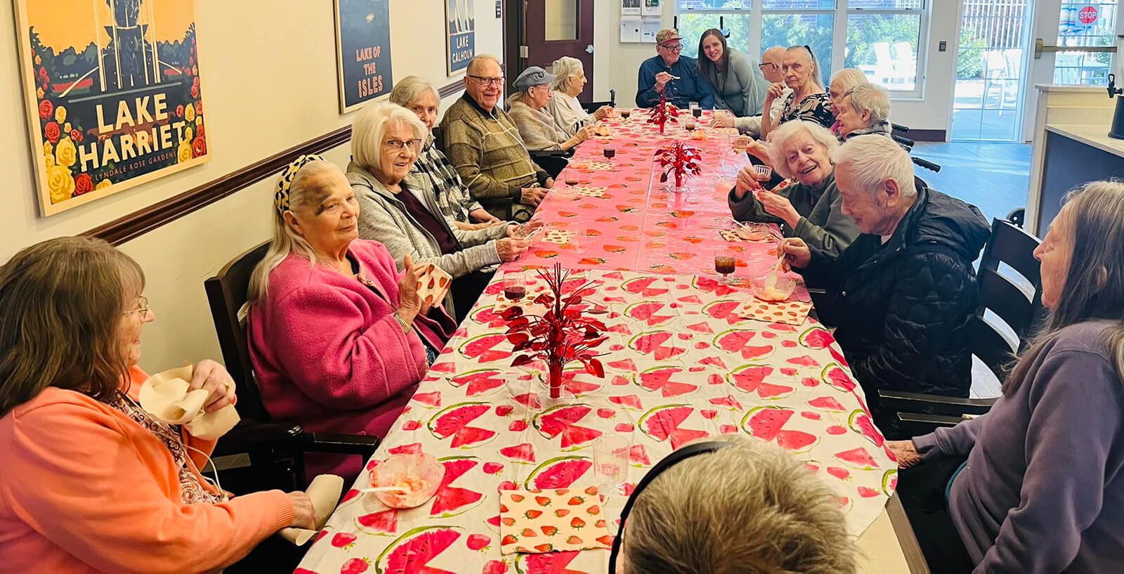
[[[1116,2],[1062,2],[1058,22],[1059,46],[1112,46],[1116,33]],[[1059,52],[1054,56],[1055,84],[1104,85],[1112,71],[1108,52]]]

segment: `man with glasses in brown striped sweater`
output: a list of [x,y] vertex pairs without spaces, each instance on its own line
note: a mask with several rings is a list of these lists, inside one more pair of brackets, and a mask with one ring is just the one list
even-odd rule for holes
[[[472,199],[500,219],[529,217],[554,184],[527,152],[519,128],[499,108],[504,72],[496,56],[469,62],[464,94],[441,120],[444,152]],[[518,217],[517,217],[518,216]]]

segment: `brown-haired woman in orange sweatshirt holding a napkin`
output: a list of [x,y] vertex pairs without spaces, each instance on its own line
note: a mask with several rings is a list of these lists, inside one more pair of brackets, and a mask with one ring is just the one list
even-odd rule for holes
[[[315,528],[305,493],[228,499],[199,473],[214,443],[136,402],[143,288],[136,262],[87,237],[0,267],[0,573],[211,572]],[[232,383],[203,361],[191,386],[217,410]]]

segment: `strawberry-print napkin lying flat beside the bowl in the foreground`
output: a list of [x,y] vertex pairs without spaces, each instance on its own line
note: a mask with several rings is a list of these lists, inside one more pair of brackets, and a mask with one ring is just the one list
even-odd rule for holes
[[499,517],[501,554],[613,546],[597,486],[500,491]]

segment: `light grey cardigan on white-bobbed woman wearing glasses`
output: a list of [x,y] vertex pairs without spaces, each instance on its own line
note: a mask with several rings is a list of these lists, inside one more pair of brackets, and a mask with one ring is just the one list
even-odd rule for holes
[[[426,207],[434,213],[441,213],[436,200],[433,199],[430,184],[426,180],[411,173],[402,183],[407,188],[422,189]],[[406,204],[374,175],[352,162],[347,165],[347,182],[355,190],[355,199],[359,201],[359,236],[384,245],[393,255],[399,268],[406,254],[409,254],[415,262],[433,263],[454,279],[500,262],[495,239],[507,235],[507,226],[462,231],[450,226],[447,218],[438,216],[461,244],[460,250],[442,254],[433,234],[422,227],[422,224],[406,211]],[[452,304],[453,298],[446,297],[445,311],[454,312]]]

